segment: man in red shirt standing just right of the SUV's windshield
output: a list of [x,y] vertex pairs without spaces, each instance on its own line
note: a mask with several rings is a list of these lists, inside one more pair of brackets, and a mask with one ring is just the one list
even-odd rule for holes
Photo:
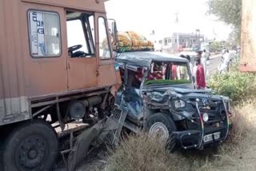
[[195,58],[195,65],[197,66],[196,87],[197,89],[205,89],[206,88],[205,72],[201,64],[201,59],[199,57]]

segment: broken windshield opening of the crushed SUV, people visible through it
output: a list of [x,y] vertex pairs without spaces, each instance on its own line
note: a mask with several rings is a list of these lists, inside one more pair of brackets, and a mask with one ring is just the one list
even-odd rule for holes
[[186,62],[152,62],[145,84],[176,85],[191,82],[190,68]]

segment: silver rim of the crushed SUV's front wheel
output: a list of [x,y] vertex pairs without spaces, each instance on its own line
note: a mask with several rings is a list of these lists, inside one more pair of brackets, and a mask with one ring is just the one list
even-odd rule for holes
[[150,127],[150,137],[159,136],[163,141],[167,141],[169,131],[162,122],[156,122]]

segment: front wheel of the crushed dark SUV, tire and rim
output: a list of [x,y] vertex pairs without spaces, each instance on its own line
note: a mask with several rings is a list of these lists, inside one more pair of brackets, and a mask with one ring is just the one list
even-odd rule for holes
[[174,121],[166,113],[155,113],[146,121],[146,130],[150,136],[161,133],[161,137],[166,141],[166,148],[174,151],[176,140],[173,132],[176,130]]

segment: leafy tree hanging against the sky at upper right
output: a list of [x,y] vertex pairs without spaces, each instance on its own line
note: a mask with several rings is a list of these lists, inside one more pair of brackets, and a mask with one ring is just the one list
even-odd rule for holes
[[214,14],[222,22],[234,27],[233,35],[240,40],[242,0],[208,0],[208,14]]

